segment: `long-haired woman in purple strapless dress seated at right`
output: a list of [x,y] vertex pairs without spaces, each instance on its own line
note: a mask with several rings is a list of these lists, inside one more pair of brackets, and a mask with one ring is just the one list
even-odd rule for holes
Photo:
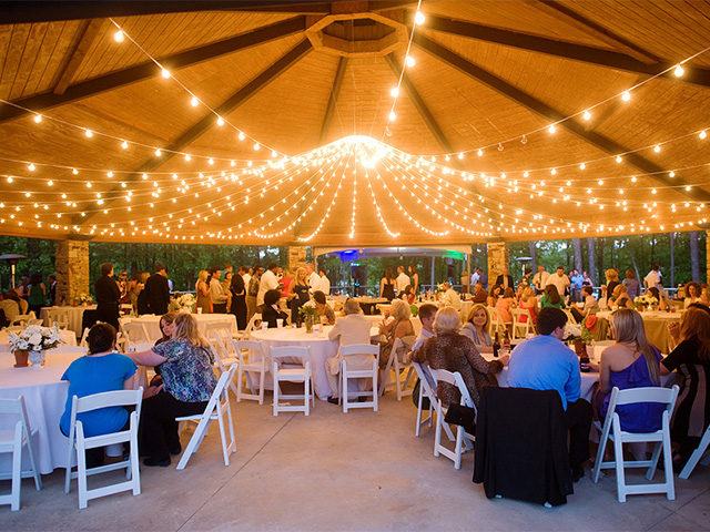
[[[601,354],[599,389],[595,407],[599,419],[607,417],[611,389],[660,386],[661,351],[646,338],[641,315],[630,308],[620,308],[611,316],[611,336],[617,341]],[[661,428],[661,416],[666,405],[641,402],[621,405],[619,415],[621,429],[628,432],[655,432]]]

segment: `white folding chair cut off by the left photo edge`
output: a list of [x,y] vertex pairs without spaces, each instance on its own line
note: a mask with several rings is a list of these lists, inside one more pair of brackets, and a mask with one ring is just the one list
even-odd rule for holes
[[[37,430],[30,428],[27,418],[27,408],[24,407],[24,397],[17,399],[0,399],[0,415],[14,416],[18,419],[14,429],[0,430],[0,453],[12,453],[12,472],[10,474],[1,474],[0,479],[12,479],[12,488],[10,494],[0,495],[0,504],[10,504],[13,512],[20,510],[20,485],[23,478],[32,477],[37,491],[42,489],[42,479],[37,469],[34,461],[34,451],[32,450],[32,438]],[[30,458],[29,471],[22,471],[22,448],[27,446]]]

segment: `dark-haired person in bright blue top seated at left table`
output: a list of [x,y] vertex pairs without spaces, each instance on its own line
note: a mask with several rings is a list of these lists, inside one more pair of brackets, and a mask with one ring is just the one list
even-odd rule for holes
[[[133,389],[133,376],[138,368],[129,357],[115,352],[115,328],[112,325],[94,325],[87,337],[89,344],[87,356],[71,362],[62,375],[62,380],[69,381],[64,413],[59,420],[59,427],[64,436],[69,436],[71,403],[74,396],[87,397],[104,391]],[[108,407],[80,413],[77,420],[82,422],[84,436],[88,438],[129,428],[129,412],[123,407]],[[87,449],[87,467],[101,466],[103,458],[103,448]]]

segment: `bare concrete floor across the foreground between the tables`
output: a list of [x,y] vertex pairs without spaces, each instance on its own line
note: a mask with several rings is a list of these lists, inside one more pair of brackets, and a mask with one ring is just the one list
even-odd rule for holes
[[435,458],[434,429],[414,436],[410,398],[397,402],[389,392],[378,412],[347,415],[316,401],[307,418],[274,418],[270,405],[252,401],[233,411],[237,451],[227,468],[213,426],[184,471],[176,460],[142,468],[139,497],[124,492],[80,511],[75,481],[63,492],[63,470],[43,477],[40,492],[24,480],[22,509],[0,507],[0,530],[710,530],[710,468],[702,466],[689,480],[676,477],[676,501],[633,495],[620,504],[613,472],[598,484],[587,472],[567,504],[546,509],[486,499],[471,482],[473,453],[460,471]]

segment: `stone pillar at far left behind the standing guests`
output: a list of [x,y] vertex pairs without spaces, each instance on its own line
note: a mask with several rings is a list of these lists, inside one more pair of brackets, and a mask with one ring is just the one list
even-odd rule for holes
[[57,243],[57,301],[71,304],[80,294],[89,295],[89,242]]

